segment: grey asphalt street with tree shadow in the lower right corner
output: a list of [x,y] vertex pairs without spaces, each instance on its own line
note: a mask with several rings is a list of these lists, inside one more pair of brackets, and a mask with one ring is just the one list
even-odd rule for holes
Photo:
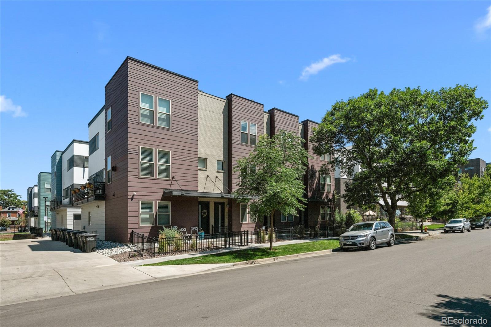
[[441,317],[483,317],[491,326],[490,271],[491,229],[473,230],[12,304],[0,324],[442,326]]

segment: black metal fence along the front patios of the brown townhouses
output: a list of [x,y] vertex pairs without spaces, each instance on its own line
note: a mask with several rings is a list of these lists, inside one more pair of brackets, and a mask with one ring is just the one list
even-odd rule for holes
[[[295,226],[276,228],[273,231],[273,242],[307,240],[337,237],[346,231],[345,225],[333,226]],[[227,231],[214,234],[193,234],[178,237],[156,237],[131,232],[130,243],[135,245],[142,254],[157,256],[185,252],[199,252],[270,242],[269,229]]]

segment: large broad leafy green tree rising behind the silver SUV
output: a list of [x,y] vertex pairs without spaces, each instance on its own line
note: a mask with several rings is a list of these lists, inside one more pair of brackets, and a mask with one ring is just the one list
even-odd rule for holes
[[343,198],[359,206],[382,200],[394,224],[398,201],[455,174],[456,164],[464,164],[474,149],[472,121],[488,108],[475,91],[467,85],[370,89],[327,111],[311,137],[314,151],[336,154],[328,164],[348,175],[360,165]]

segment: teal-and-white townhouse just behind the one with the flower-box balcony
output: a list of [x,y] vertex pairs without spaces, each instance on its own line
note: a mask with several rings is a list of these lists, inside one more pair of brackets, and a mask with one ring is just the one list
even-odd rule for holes
[[82,210],[74,206],[72,192],[81,191],[88,181],[88,142],[72,140],[64,151],[55,151],[51,157],[51,184],[55,193],[50,210],[53,213],[54,227],[74,227],[74,220],[80,220]]

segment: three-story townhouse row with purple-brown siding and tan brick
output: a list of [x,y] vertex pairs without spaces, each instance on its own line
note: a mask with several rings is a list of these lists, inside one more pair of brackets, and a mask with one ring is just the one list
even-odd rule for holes
[[107,83],[105,98],[106,240],[128,242],[132,230],[156,236],[163,226],[205,233],[261,226],[234,200],[238,174],[232,169],[260,135],[280,130],[304,138],[312,158],[306,210],[277,213],[274,224],[322,225],[332,218],[334,171],[320,175],[328,156],[316,156],[308,141],[318,123],[300,123],[277,108],[264,111],[233,93],[207,94],[194,79],[131,57]]

